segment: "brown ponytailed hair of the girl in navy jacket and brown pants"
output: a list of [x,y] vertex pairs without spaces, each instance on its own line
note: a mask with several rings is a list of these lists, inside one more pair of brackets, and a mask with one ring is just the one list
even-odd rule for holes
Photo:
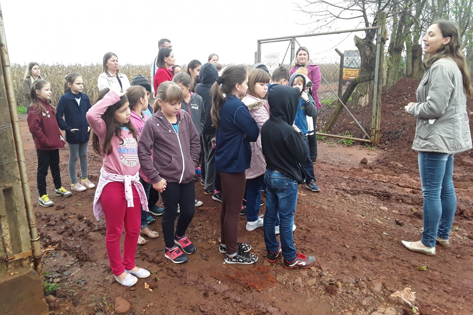
[[[221,77],[212,85],[210,96],[212,97],[212,108],[210,116],[212,124],[215,128],[219,128],[220,110],[228,96],[233,95],[233,89],[238,83],[243,83],[247,76],[246,69],[242,66],[229,66],[226,68]],[[220,85],[220,87],[219,87]],[[223,96],[225,94],[225,97]]]

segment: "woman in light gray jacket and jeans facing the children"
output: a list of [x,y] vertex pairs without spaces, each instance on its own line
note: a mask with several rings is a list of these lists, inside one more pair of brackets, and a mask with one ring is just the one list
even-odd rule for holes
[[472,148],[466,97],[473,96],[473,89],[455,24],[438,21],[422,40],[432,57],[424,63],[417,102],[405,111],[417,117],[412,149],[419,151],[424,230],[420,241],[402,243],[413,252],[435,255],[436,243],[450,247],[456,209],[453,155]]

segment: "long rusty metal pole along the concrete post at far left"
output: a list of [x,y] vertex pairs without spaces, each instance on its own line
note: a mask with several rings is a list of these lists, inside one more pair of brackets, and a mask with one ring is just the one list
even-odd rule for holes
[[18,123],[18,109],[15,97],[15,90],[13,89],[13,79],[11,75],[11,67],[8,56],[7,39],[5,36],[5,28],[3,24],[3,14],[0,7],[0,58],[1,67],[3,69],[3,77],[5,79],[5,90],[7,94],[7,102],[9,105],[11,128],[13,130],[13,137],[15,142],[15,149],[17,154],[18,168],[20,171],[20,179],[23,190],[23,196],[26,206],[26,217],[28,219],[31,250],[33,254],[33,263],[35,271],[41,274],[41,244],[39,242],[38,230],[36,229],[36,217],[33,211],[33,202],[31,199],[31,190],[28,182],[28,173],[26,170],[25,153],[23,151],[23,141],[21,139],[21,130]]

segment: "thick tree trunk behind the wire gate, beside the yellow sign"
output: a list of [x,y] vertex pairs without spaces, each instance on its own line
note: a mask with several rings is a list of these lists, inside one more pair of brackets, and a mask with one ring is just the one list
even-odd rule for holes
[[[359,50],[361,58],[361,67],[359,69],[359,77],[374,73],[376,63],[376,45],[373,39],[354,37],[355,46]],[[355,91],[351,95],[354,108],[360,108],[373,102],[373,80],[360,83],[356,86]]]

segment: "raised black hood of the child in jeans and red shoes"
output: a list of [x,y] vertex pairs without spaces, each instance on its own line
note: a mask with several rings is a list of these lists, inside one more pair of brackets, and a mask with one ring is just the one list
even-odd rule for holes
[[276,85],[268,92],[269,119],[285,122],[292,126],[299,104],[300,91],[297,87]]

